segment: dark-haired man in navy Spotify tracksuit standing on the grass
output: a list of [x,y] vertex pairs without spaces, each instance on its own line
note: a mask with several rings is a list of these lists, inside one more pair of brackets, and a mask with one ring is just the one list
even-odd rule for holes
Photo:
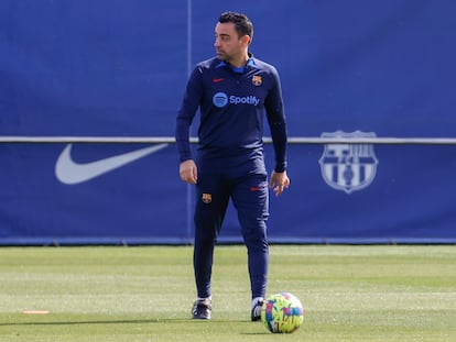
[[[289,187],[286,124],[275,68],[248,51],[250,20],[226,12],[215,29],[217,57],[199,63],[189,76],[176,119],[181,179],[196,186],[194,269],[197,299],[194,319],[210,319],[214,246],[231,198],[248,251],[252,321],[260,319],[267,288],[269,244],[268,175],[263,158],[264,109],[273,140],[275,167],[269,186],[275,196]],[[189,126],[199,108],[195,162]]]

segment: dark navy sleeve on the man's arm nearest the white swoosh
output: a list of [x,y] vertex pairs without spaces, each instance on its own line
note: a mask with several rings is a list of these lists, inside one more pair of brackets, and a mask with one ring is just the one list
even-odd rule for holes
[[188,78],[184,98],[176,118],[175,139],[181,163],[192,159],[189,128],[199,107],[202,97],[202,70],[199,67],[196,67]]

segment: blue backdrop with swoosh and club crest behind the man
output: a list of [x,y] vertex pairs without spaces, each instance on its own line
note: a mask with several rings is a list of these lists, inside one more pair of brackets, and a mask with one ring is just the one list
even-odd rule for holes
[[[456,135],[449,0],[3,0],[0,135],[172,136],[226,10],[279,69],[291,136]],[[293,143],[289,158],[271,241],[456,242],[456,145]],[[0,143],[0,244],[191,243],[192,192],[173,143]],[[240,242],[232,208],[225,223]]]

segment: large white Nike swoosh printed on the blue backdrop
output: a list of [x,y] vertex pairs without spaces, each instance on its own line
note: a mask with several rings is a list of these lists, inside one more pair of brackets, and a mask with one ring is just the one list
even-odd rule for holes
[[55,163],[55,176],[63,184],[79,184],[99,177],[126,164],[140,159],[151,153],[163,150],[169,144],[159,144],[132,152],[115,155],[108,158],[90,162],[76,163],[72,158],[72,144],[68,144]]

